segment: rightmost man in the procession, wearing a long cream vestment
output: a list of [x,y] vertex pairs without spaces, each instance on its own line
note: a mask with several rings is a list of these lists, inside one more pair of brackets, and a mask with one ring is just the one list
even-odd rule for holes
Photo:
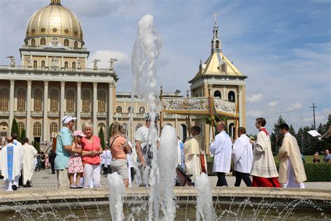
[[283,187],[304,188],[307,180],[297,139],[288,133],[288,124],[281,124],[279,131],[284,135],[283,143],[279,148],[279,183]]

